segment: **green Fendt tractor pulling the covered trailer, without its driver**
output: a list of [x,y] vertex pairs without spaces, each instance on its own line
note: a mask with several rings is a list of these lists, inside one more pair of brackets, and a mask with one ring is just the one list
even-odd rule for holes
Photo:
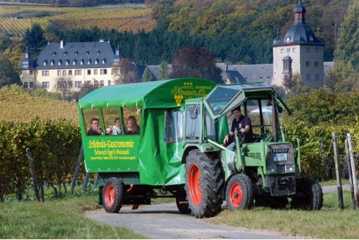
[[[253,142],[235,132],[234,151],[222,146],[232,122],[231,111],[241,106],[251,118]],[[301,175],[300,148],[286,141],[279,113],[288,110],[267,84],[218,85],[208,96],[186,101],[184,159],[185,190],[196,217],[213,216],[226,200],[229,210],[253,206],[319,210],[320,185]]]

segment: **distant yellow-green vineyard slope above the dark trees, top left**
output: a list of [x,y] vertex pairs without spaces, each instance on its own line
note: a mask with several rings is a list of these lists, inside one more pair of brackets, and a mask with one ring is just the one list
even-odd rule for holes
[[[20,18],[14,18],[14,16]],[[54,8],[51,6],[1,6],[0,34],[23,37],[33,23],[60,30],[99,27],[119,32],[146,32],[156,26],[150,8]]]

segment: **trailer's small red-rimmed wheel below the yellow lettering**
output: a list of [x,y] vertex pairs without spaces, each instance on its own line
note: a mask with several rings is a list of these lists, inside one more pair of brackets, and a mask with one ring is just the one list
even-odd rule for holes
[[106,180],[102,198],[107,213],[118,213],[123,201],[123,188],[118,178],[111,177]]

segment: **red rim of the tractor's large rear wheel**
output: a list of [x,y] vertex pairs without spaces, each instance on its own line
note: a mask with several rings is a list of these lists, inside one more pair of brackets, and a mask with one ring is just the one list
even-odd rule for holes
[[195,206],[199,206],[202,201],[202,189],[201,183],[201,171],[197,165],[192,164],[189,168],[189,193],[191,195],[192,202]]

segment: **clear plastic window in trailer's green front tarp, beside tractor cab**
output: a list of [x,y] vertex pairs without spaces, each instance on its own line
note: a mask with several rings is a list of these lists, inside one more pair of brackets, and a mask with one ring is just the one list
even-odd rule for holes
[[177,109],[166,110],[163,141],[168,144],[182,141],[183,121],[184,111],[179,111]]

